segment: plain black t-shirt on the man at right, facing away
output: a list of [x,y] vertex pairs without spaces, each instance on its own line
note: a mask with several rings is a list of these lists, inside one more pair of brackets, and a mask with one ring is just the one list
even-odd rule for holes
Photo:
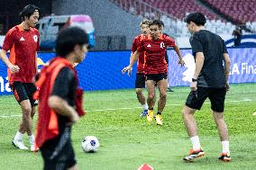
[[227,53],[224,40],[211,31],[201,30],[192,35],[190,44],[194,56],[203,52],[205,57],[197,86],[224,87],[223,55]]

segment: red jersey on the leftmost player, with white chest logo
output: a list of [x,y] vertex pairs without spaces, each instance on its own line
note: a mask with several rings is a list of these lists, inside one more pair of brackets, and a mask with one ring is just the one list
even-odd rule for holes
[[14,74],[7,69],[10,85],[14,81],[32,83],[32,78],[37,73],[36,51],[39,50],[39,37],[38,30],[30,28],[26,31],[21,25],[14,26],[6,33],[3,49],[10,50],[10,62],[20,67],[20,71]]

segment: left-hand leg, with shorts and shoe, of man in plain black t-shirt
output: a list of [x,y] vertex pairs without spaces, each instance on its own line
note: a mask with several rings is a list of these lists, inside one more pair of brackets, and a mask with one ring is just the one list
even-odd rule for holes
[[197,132],[197,122],[194,118],[194,113],[201,109],[207,95],[207,88],[197,87],[197,92],[190,92],[188,94],[186,105],[182,110],[184,125],[193,146],[193,149],[189,151],[188,156],[183,158],[183,160],[187,162],[193,161],[195,158],[205,155],[205,152],[202,150],[200,145]]

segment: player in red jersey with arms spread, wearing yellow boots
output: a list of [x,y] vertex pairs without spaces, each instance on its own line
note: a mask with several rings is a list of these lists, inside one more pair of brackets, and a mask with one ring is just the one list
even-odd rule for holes
[[133,54],[130,65],[123,68],[123,73],[130,70],[133,67],[134,62],[145,51],[145,64],[144,73],[146,76],[146,83],[148,88],[149,112],[147,114],[147,120],[153,120],[153,107],[155,103],[155,84],[158,85],[160,91],[160,99],[158,102],[158,112],[156,115],[156,121],[158,125],[162,125],[161,112],[166,104],[167,86],[168,86],[168,67],[165,59],[165,53],[167,47],[173,47],[178,54],[178,63],[183,66],[185,63],[182,60],[182,56],[175,44],[175,41],[166,35],[160,34],[161,23],[159,20],[154,20],[150,23],[151,34],[145,39],[141,40],[137,51]]

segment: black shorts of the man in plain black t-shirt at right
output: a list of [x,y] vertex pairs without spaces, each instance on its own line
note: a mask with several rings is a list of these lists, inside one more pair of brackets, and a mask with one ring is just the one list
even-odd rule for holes
[[196,92],[190,92],[186,105],[192,109],[200,110],[208,97],[211,101],[211,109],[215,112],[224,112],[224,99],[226,88],[197,87]]

